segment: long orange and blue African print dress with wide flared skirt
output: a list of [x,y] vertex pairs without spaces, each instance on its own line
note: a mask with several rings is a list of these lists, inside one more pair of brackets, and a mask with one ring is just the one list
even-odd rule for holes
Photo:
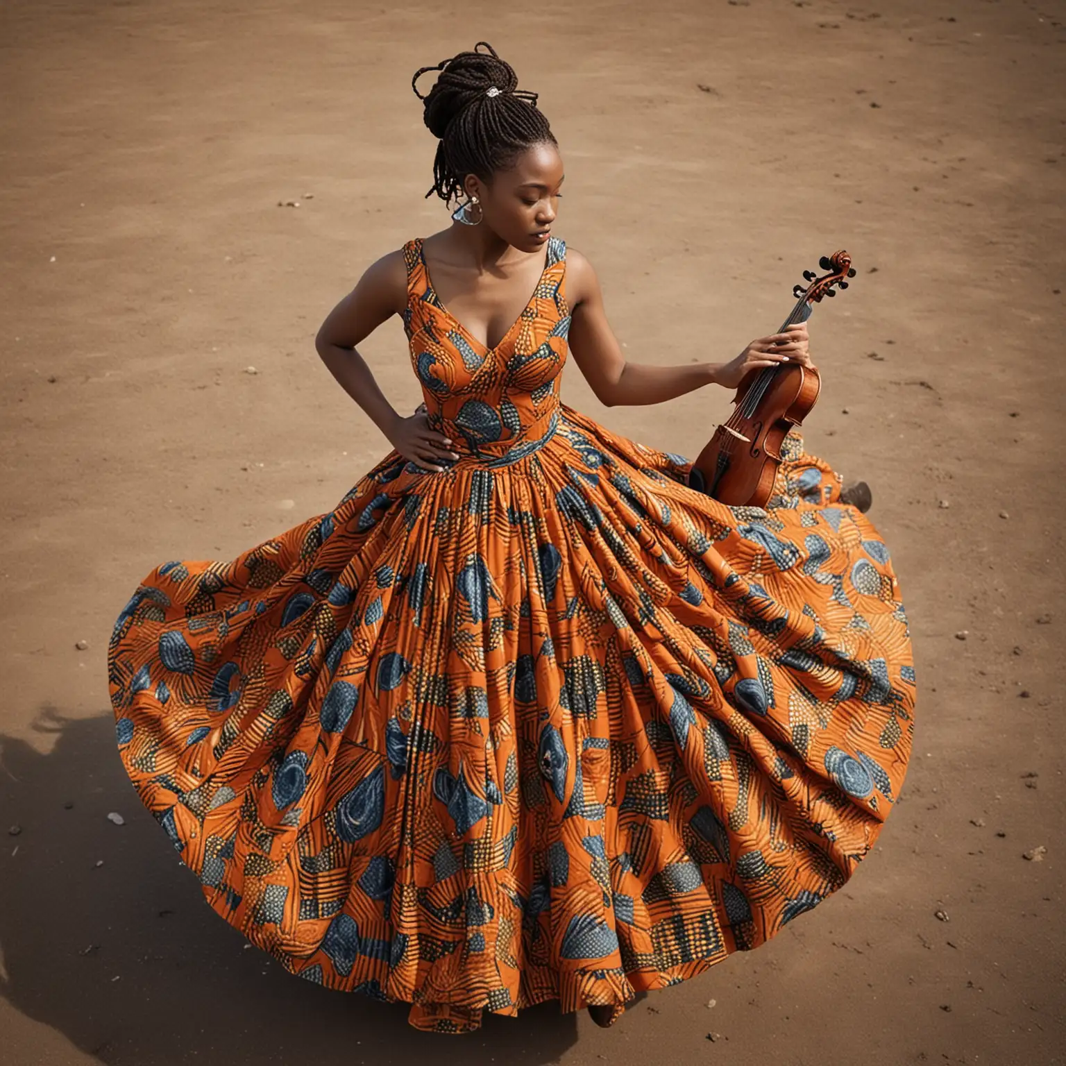
[[208,904],[294,974],[475,1030],[673,985],[855,872],[915,672],[889,552],[795,432],[765,508],[560,399],[566,245],[488,350],[404,245],[457,461],[136,587],[118,752]]

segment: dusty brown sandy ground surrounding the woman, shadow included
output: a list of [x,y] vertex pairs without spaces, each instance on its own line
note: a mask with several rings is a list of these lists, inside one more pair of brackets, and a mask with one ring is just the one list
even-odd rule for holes
[[[547,1004],[418,1033],[243,950],[131,791],[108,700],[152,566],[230,559],[388,451],[312,339],[447,224],[409,81],[478,39],[542,93],[555,230],[631,358],[729,358],[851,251],[810,322],[805,432],[874,486],[917,656],[904,795],[855,878],[607,1032]],[[0,1060],[1066,1061],[1064,54],[1053,0],[9,0]],[[413,409],[399,321],[361,351]],[[572,362],[564,397],[689,456],[727,409],[709,388],[605,410]]]

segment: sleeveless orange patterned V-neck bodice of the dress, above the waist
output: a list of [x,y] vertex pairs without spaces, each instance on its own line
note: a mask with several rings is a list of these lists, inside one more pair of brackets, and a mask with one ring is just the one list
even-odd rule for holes
[[[452,316],[433,287],[422,238],[404,245],[404,330],[431,426],[452,439],[458,462],[502,466],[547,442],[558,425],[566,361],[566,243],[548,238],[533,295],[495,348]],[[448,463],[441,463],[448,466]]]

